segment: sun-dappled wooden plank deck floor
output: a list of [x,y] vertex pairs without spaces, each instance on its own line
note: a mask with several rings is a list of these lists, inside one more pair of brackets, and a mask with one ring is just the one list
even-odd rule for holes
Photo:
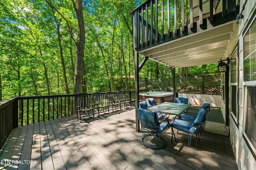
[[228,137],[202,131],[196,150],[194,136],[192,146],[182,132],[172,143],[168,129],[166,147],[153,150],[142,144],[145,133],[135,131],[134,119],[131,109],[85,122],[72,116],[18,127],[0,151],[0,169],[237,169]]

